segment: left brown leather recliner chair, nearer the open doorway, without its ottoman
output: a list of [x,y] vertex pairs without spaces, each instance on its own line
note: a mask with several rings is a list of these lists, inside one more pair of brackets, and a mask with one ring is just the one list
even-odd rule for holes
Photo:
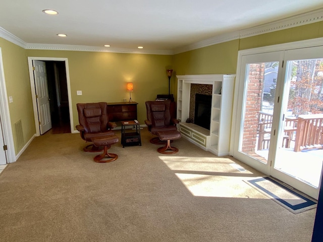
[[[106,113],[106,102],[77,103],[79,125],[76,129],[80,132],[81,138],[86,142],[92,142],[92,138],[115,135],[111,130],[117,127],[116,123],[109,122]],[[103,147],[96,147],[93,144],[83,148],[86,152],[103,151]]]

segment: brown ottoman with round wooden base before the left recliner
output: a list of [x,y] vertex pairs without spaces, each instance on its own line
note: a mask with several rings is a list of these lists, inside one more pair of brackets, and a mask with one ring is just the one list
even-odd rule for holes
[[[104,147],[103,153],[93,158],[95,162],[106,163],[106,162],[111,162],[118,159],[117,154],[107,153],[107,150],[110,149],[111,145],[119,142],[119,138],[116,135],[108,135],[103,137],[92,138],[92,142],[93,142],[93,145],[95,145],[96,147],[100,147],[100,146]],[[105,156],[107,157],[107,159]]]

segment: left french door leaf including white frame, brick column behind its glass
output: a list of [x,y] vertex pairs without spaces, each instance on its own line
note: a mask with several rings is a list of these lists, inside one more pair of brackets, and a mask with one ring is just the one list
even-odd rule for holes
[[265,174],[270,172],[268,160],[275,138],[273,114],[282,59],[283,51],[242,56],[237,76],[240,80],[236,87],[239,95],[233,153]]

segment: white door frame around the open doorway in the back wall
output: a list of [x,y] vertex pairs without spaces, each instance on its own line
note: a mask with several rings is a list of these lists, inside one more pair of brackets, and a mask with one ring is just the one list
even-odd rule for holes
[[35,91],[35,80],[34,80],[34,72],[32,69],[33,61],[57,61],[57,62],[65,62],[66,69],[66,82],[67,82],[67,94],[69,99],[69,112],[70,112],[70,126],[71,132],[73,132],[73,110],[72,110],[72,97],[71,97],[71,84],[70,84],[70,73],[69,73],[69,63],[68,58],[57,58],[57,57],[30,57],[28,56],[28,69],[29,69],[29,78],[30,78],[30,88],[31,88],[31,97],[32,104],[34,108],[34,119],[35,119],[35,128],[36,128],[36,136],[40,136],[40,128],[39,128],[39,117],[38,117],[38,109],[37,109],[37,99],[36,99],[36,91]]

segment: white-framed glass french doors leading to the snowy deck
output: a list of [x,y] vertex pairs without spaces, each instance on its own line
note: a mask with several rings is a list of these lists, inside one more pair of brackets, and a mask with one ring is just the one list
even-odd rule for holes
[[242,55],[233,155],[318,197],[323,160],[323,47]]

